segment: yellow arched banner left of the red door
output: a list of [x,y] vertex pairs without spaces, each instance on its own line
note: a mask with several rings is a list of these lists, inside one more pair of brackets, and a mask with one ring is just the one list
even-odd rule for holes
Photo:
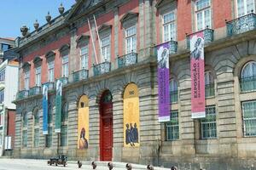
[[88,148],[89,139],[89,100],[83,95],[79,100],[78,149]]

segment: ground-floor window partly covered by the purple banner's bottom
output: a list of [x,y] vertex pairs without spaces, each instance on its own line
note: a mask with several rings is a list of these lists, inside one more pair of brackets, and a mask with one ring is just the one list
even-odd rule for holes
[[166,122],[166,140],[177,140],[178,138],[178,111],[171,111],[170,122]]

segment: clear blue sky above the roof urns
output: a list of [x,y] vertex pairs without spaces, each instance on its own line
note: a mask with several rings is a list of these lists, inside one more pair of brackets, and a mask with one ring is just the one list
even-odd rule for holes
[[19,37],[20,26],[26,25],[34,30],[33,23],[38,20],[40,26],[46,23],[48,11],[52,18],[58,14],[61,3],[65,11],[75,0],[0,0],[0,37]]

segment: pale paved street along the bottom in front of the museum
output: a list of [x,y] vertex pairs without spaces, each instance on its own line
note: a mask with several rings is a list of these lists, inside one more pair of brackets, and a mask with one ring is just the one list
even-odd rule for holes
[[[68,162],[67,162],[68,163]],[[119,163],[119,166],[114,167],[113,170],[125,170],[125,167],[120,166],[121,163]],[[79,169],[77,164],[75,164],[74,161],[70,161],[67,164],[67,167],[63,166],[49,166],[47,165],[46,160],[28,160],[28,159],[0,159],[0,170],[50,170],[50,169],[65,169],[65,170],[71,170],[71,169]],[[81,169],[90,170],[92,169],[91,166],[83,164]],[[108,167],[106,166],[97,166],[97,170],[108,170]],[[138,166],[137,168],[133,168],[133,170],[142,170],[146,169],[145,166]],[[156,170],[166,170],[166,168],[154,168]]]

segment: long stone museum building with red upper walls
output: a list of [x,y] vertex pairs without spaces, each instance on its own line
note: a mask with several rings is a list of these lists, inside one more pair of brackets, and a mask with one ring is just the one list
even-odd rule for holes
[[[15,157],[67,155],[180,169],[256,166],[256,14],[247,0],[78,0],[22,26]],[[202,31],[206,117],[191,118],[189,36]],[[157,45],[169,42],[170,122]],[[62,83],[61,131],[55,123]],[[43,86],[48,87],[43,134]]]

